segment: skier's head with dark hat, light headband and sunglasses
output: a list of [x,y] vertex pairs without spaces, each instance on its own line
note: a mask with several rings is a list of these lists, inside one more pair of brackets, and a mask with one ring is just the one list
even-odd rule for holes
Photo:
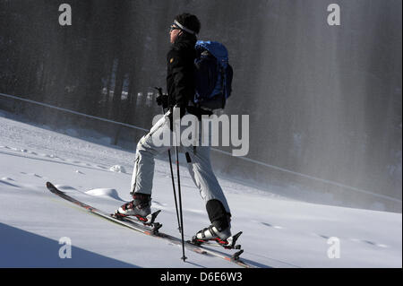
[[195,15],[190,13],[181,13],[176,15],[174,23],[171,25],[171,29],[169,30],[170,41],[173,44],[179,36],[184,34],[193,35],[193,37],[196,37],[200,31],[200,28],[200,21]]

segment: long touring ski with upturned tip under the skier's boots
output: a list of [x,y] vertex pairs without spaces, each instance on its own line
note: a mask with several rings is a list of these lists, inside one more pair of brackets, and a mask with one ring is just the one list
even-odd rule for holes
[[[47,189],[50,192],[52,192],[53,194],[58,195],[59,197],[63,198],[64,200],[67,200],[73,204],[76,204],[76,205],[88,210],[90,213],[96,214],[104,219],[107,219],[108,221],[116,222],[127,228],[136,230],[138,232],[141,232],[143,234],[146,234],[146,235],[149,235],[149,236],[152,236],[155,238],[167,239],[172,244],[182,246],[182,240],[180,238],[176,238],[176,237],[173,237],[171,235],[168,235],[166,233],[159,231],[159,229],[162,227],[162,224],[160,224],[159,222],[152,221],[152,223],[150,223],[150,225],[144,225],[144,224],[141,224],[138,219],[134,219],[132,217],[116,218],[114,214],[102,212],[99,209],[90,206],[89,204],[81,203],[80,201],[74,199],[70,195],[66,195],[64,192],[57,189],[56,186],[54,186],[50,182],[47,182]],[[154,214],[153,220],[155,220],[155,217],[158,215],[159,212],[160,211],[158,211],[157,214],[155,214],[156,212],[153,213]],[[255,268],[255,266],[253,266],[251,264],[247,264],[239,258],[239,256],[244,252],[243,249],[239,250],[238,252],[236,252],[236,254],[231,256],[231,255],[229,255],[227,253],[223,253],[219,250],[210,249],[209,247],[205,247],[202,245],[202,243],[199,245],[197,243],[193,243],[192,241],[186,241],[184,243],[184,247],[186,247],[188,250],[191,250],[195,253],[219,257],[228,262],[237,264],[237,265],[245,267],[245,268]],[[237,248],[234,248],[234,249],[237,249]]]

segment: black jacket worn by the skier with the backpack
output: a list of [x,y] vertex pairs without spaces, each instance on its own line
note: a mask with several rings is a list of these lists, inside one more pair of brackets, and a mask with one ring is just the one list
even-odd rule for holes
[[187,108],[194,97],[194,45],[196,37],[184,33],[167,53],[167,93],[169,107]]

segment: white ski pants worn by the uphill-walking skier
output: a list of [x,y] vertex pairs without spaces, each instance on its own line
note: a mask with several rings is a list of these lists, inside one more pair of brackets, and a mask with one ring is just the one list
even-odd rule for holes
[[[154,158],[162,152],[167,152],[168,149],[175,150],[173,146],[157,146],[153,142],[153,137],[161,138],[160,136],[162,136],[164,132],[167,134],[167,129],[171,135],[173,134],[169,128],[167,115],[168,113],[165,114],[164,117],[161,117],[159,121],[152,126],[150,132],[142,136],[139,143],[137,143],[131,186],[133,193],[151,195],[152,180],[154,177]],[[183,130],[181,130],[181,132],[183,132]],[[193,178],[194,184],[199,189],[204,203],[207,204],[210,200],[219,200],[226,211],[230,212],[227,199],[211,168],[210,141],[209,146],[201,146],[201,138],[199,140],[199,146],[195,148],[193,148],[193,145],[189,147],[181,145],[178,149],[189,154],[190,162],[187,162],[187,168]],[[171,152],[171,154],[174,154],[174,152]]]

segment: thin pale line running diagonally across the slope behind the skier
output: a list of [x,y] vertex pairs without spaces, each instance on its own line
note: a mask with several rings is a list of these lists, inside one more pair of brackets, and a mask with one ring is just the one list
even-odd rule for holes
[[[79,116],[82,116],[82,117],[89,117],[89,118],[92,118],[92,119],[98,119],[98,120],[101,120],[101,121],[104,121],[104,122],[113,123],[113,124],[117,124],[117,125],[120,125],[120,126],[133,128],[133,129],[138,129],[138,130],[141,130],[141,131],[144,131],[144,132],[149,132],[150,131],[150,129],[141,128],[139,126],[133,126],[133,125],[125,124],[125,123],[122,123],[122,122],[117,122],[117,121],[114,121],[114,120],[109,120],[109,119],[102,118],[102,117],[93,117],[93,116],[90,116],[88,114],[73,111],[73,110],[70,110],[70,109],[57,108],[57,107],[55,107],[53,105],[49,105],[49,104],[46,104],[46,103],[42,103],[42,102],[38,102],[38,101],[34,101],[34,100],[21,99],[21,98],[19,98],[17,96],[13,96],[13,95],[9,95],[9,94],[0,93],[0,96],[4,96],[6,98],[10,98],[10,99],[13,99],[13,100],[21,100],[21,101],[30,102],[30,103],[33,103],[33,104],[38,104],[40,106],[44,106],[44,107],[47,107],[47,108],[55,108],[57,110],[72,113],[72,114],[79,115]],[[215,152],[220,152],[222,154],[225,154],[225,155],[233,157],[230,152],[225,152],[225,151],[219,150],[217,148],[211,148],[211,150],[215,151]],[[297,173],[297,172],[294,172],[294,171],[289,170],[289,169],[283,169],[283,168],[280,168],[280,167],[277,167],[277,166],[273,166],[273,165],[264,163],[264,162],[259,161],[259,160],[253,160],[253,159],[249,159],[249,158],[246,158],[246,157],[236,157],[236,158],[240,159],[240,160],[246,160],[246,161],[249,161],[249,162],[264,166],[264,167],[268,167],[268,168],[271,168],[271,169],[277,169],[279,171],[283,171],[283,172],[286,172],[288,174],[296,175],[296,176],[299,176],[299,177],[302,177],[302,178],[309,178],[309,179],[313,179],[315,181],[330,184],[330,185],[333,185],[333,186],[339,186],[339,187],[347,188],[347,189],[350,189],[352,191],[363,193],[365,195],[373,195],[373,196],[380,197],[380,198],[385,199],[385,200],[393,201],[393,202],[400,203],[400,204],[402,203],[401,200],[399,200],[397,198],[394,198],[394,197],[391,197],[389,195],[380,195],[380,194],[376,194],[376,193],[373,193],[373,192],[370,192],[370,191],[366,191],[366,190],[356,188],[354,186],[347,186],[347,185],[339,184],[337,182],[333,182],[333,181],[330,181],[330,180],[327,180],[327,179],[315,178],[313,176]]]

